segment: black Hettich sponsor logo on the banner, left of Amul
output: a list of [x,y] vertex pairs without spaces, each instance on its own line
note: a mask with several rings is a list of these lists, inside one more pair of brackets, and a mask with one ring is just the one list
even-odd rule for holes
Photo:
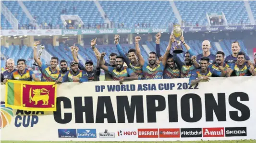
[[182,138],[202,137],[202,128],[183,128],[181,129]]

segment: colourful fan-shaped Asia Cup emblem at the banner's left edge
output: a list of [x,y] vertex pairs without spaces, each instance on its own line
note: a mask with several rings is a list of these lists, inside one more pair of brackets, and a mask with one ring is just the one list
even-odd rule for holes
[[5,107],[5,102],[1,101],[1,129],[12,121],[12,108]]

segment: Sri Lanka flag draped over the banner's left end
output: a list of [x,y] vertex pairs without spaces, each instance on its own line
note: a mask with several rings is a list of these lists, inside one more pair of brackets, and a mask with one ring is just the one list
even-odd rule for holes
[[8,80],[5,106],[26,111],[56,111],[55,82]]

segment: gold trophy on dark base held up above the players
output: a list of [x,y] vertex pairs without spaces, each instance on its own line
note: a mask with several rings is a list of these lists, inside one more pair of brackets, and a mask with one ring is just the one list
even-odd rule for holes
[[[179,24],[173,25],[173,30],[171,34],[176,38],[183,36],[183,30],[181,28],[181,25]],[[171,52],[175,54],[183,53],[182,42],[180,40],[176,40],[175,42],[172,43]]]

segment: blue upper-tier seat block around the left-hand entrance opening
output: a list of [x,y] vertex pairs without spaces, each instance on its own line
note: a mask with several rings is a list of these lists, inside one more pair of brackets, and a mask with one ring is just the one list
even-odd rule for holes
[[[37,24],[51,23],[53,26],[62,24],[61,10],[67,9],[64,15],[79,15],[84,24],[104,23],[98,9],[93,1],[23,1],[28,11],[37,16]],[[73,11],[73,7],[76,11]],[[62,14],[63,15],[63,14]]]

